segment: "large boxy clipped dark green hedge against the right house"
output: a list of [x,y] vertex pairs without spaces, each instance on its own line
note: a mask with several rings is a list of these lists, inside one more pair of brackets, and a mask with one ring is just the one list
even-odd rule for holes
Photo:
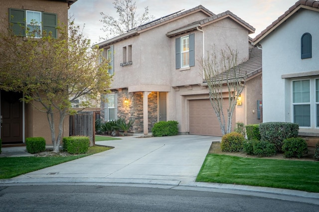
[[299,125],[288,122],[266,122],[259,124],[261,140],[275,144],[278,152],[282,152],[283,141],[286,138],[298,136]]

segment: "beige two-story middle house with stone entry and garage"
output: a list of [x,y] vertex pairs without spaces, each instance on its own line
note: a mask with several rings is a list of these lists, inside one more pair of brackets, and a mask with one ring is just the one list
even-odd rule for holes
[[[177,120],[180,134],[220,136],[201,59],[213,46],[220,50],[228,45],[239,52],[239,62],[246,61],[243,69],[249,74],[232,125],[260,123],[261,51],[249,47],[248,36],[254,30],[230,11],[216,15],[199,5],[99,43],[110,60],[109,73],[114,74],[112,93],[101,106],[103,119],[133,119],[131,130],[144,134],[158,121]],[[257,60],[259,66],[248,58]]]

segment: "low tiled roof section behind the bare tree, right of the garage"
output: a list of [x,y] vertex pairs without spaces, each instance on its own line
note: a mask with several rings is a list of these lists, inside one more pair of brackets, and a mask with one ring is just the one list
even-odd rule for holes
[[262,72],[262,50],[258,48],[257,46],[250,49],[249,52],[249,59],[241,64],[239,64],[237,67],[231,69],[227,72],[223,72],[219,74],[217,81],[222,81],[226,83],[226,78],[228,77],[228,80],[235,79],[234,77],[234,69],[237,69],[238,72],[236,72],[237,79],[245,80],[249,79],[252,76]]

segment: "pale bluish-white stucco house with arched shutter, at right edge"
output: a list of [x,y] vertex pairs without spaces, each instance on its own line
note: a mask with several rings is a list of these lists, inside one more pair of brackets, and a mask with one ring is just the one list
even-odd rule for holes
[[263,121],[319,141],[319,1],[299,0],[253,39],[263,49]]

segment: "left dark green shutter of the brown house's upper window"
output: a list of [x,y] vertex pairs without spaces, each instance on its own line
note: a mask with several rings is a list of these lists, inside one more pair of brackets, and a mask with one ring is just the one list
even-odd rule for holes
[[25,36],[25,10],[9,8],[9,23],[14,35]]

